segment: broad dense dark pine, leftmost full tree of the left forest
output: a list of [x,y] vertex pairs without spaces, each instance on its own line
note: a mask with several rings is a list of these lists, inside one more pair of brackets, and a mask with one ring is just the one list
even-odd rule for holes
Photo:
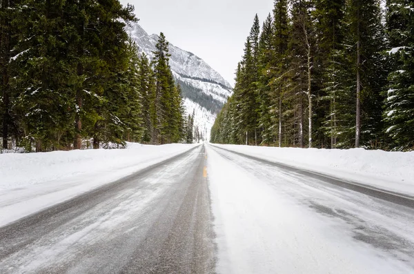
[[18,90],[16,111],[24,134],[26,148],[32,141],[36,150],[59,149],[64,145],[70,125],[70,89],[73,68],[70,64],[67,38],[63,28],[65,6],[59,1],[23,2],[15,28],[19,35],[16,45],[21,55],[16,60]]

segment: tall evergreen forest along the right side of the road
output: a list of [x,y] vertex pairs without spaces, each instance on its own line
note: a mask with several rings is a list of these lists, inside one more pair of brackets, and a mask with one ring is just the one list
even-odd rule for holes
[[414,3],[276,0],[211,141],[414,149]]

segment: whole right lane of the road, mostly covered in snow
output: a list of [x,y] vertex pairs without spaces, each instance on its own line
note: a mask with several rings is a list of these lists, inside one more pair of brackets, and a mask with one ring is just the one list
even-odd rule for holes
[[206,154],[217,273],[413,273],[411,208],[214,146]]

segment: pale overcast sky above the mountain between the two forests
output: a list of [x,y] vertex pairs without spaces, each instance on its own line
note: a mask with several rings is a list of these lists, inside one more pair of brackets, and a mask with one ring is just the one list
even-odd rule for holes
[[273,0],[121,0],[135,6],[139,24],[164,32],[175,46],[193,52],[234,84],[237,62],[255,14],[262,22]]

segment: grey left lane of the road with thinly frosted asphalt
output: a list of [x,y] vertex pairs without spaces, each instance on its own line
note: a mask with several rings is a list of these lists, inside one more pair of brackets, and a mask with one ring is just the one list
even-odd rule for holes
[[0,228],[0,273],[213,273],[204,151]]

